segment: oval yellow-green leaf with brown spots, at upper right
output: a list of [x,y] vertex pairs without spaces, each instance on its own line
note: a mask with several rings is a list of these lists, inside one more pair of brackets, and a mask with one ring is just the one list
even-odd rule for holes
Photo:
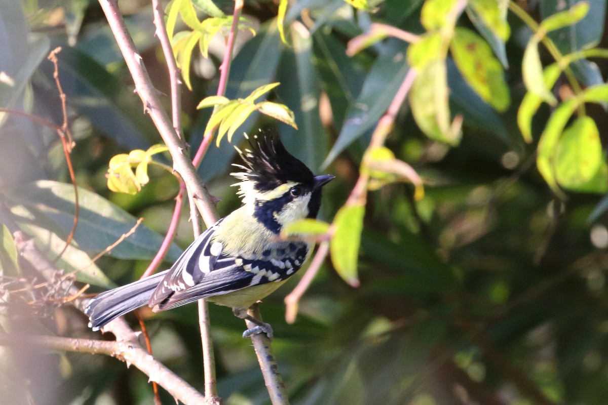
[[458,69],[479,97],[497,111],[505,111],[511,102],[509,88],[488,43],[471,30],[458,27],[450,49]]

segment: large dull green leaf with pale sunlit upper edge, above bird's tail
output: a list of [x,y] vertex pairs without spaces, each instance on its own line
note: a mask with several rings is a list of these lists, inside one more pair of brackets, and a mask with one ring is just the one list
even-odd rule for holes
[[[87,189],[78,188],[80,216],[74,234],[74,241],[80,250],[97,254],[123,234],[133,228],[137,219],[123,209]],[[7,193],[7,203],[11,209],[24,206],[33,213],[33,217],[18,217],[19,226],[32,222],[58,234],[65,239],[74,222],[74,188],[72,185],[50,180],[26,183],[18,189]],[[16,214],[18,215],[18,214]],[[44,223],[42,223],[44,221]],[[163,237],[147,226],[140,224],[135,233],[112,249],[109,256],[120,259],[152,259]],[[176,260],[181,249],[173,244],[167,254],[167,260]]]

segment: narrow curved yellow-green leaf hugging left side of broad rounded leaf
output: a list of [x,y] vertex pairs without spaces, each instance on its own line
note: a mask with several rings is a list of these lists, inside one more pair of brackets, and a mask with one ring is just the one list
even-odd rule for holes
[[553,111],[553,114],[551,114],[538,143],[536,167],[538,168],[538,171],[541,172],[545,182],[547,182],[554,192],[559,192],[553,166],[556,146],[558,145],[559,136],[564,132],[565,125],[568,120],[570,120],[570,116],[572,116],[572,113],[578,105],[579,101],[576,100],[576,98],[560,104],[560,106]]

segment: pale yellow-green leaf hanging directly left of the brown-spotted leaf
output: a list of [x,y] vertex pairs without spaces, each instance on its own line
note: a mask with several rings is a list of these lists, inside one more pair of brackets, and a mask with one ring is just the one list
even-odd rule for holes
[[416,124],[429,138],[457,145],[460,141],[460,125],[450,123],[447,104],[446,63],[430,62],[418,76],[410,90],[410,107]]

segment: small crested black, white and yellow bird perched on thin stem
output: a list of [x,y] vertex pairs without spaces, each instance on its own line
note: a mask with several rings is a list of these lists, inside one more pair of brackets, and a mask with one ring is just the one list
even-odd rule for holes
[[230,173],[242,205],[201,233],[168,270],[92,298],[89,327],[99,330],[113,319],[148,305],[154,312],[206,298],[231,307],[256,326],[243,337],[266,333],[271,325],[247,314],[298,271],[311,254],[306,240],[284,240],[280,233],[298,220],[315,219],[322,188],[335,176],[313,175],[290,154],[277,134],[247,137],[249,149],[235,146],[243,165]]

